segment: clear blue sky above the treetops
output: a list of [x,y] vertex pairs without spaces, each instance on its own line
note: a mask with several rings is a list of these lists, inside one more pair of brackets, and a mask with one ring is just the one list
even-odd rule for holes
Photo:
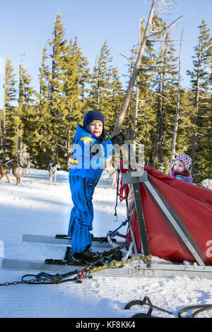
[[[3,105],[4,61],[11,59],[18,73],[20,55],[25,53],[24,65],[32,76],[32,85],[38,90],[38,71],[45,41],[52,38],[54,18],[60,11],[66,29],[66,39],[78,37],[78,46],[93,69],[95,57],[105,40],[111,49],[113,66],[119,75],[126,74],[126,59],[132,45],[139,39],[139,21],[148,18],[151,0],[0,0],[0,107]],[[198,42],[202,18],[212,35],[212,0],[175,0],[167,23],[183,15],[172,33],[179,40],[184,24],[182,46],[182,85],[189,86],[187,69],[192,69],[192,54]],[[176,43],[176,49],[179,42]],[[178,53],[177,53],[178,54]]]

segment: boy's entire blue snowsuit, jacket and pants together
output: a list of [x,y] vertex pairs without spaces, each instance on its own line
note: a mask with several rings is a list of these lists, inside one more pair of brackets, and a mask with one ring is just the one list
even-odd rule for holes
[[[110,139],[101,142],[100,137],[84,130],[81,125],[76,128],[73,143],[73,155],[69,158],[69,184],[73,208],[68,234],[71,237],[71,251],[77,253],[91,246],[93,192],[102,175],[105,160],[112,156],[114,148]],[[90,148],[97,143],[98,153],[93,155]]]

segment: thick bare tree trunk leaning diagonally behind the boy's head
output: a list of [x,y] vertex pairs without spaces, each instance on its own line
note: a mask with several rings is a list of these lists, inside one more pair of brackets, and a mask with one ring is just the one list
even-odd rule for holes
[[130,97],[131,97],[131,92],[132,92],[132,90],[134,88],[134,83],[136,81],[139,68],[141,66],[141,59],[143,57],[143,53],[144,53],[144,50],[145,50],[145,47],[146,47],[146,41],[148,39],[148,34],[149,34],[149,31],[150,31],[150,28],[151,28],[151,23],[152,23],[152,20],[153,20],[153,13],[155,11],[156,1],[157,0],[153,0],[152,6],[151,6],[151,11],[149,13],[148,21],[146,23],[146,29],[145,29],[145,32],[143,34],[143,39],[142,39],[142,42],[141,42],[141,47],[139,49],[139,54],[138,54],[138,57],[136,59],[136,64],[134,66],[134,70],[133,70],[133,72],[131,74],[131,78],[129,80],[129,85],[128,85],[128,88],[126,90],[126,94],[124,96],[124,100],[122,102],[122,107],[121,107],[121,110],[119,112],[119,116],[117,117],[117,121],[116,121],[116,124],[114,126],[113,135],[116,135],[116,134],[119,133],[119,131],[121,129],[121,126],[122,126],[122,123],[124,121],[124,116],[125,116],[125,113],[126,113],[126,109],[127,109],[128,105],[129,105],[129,100],[130,100]]

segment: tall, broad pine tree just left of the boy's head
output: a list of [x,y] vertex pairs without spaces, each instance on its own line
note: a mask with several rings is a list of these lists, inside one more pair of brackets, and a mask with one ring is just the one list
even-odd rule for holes
[[67,166],[69,143],[85,112],[89,78],[88,61],[78,47],[77,37],[67,44],[61,13],[58,13],[52,41],[42,50],[40,93],[37,93],[38,167],[47,167],[51,160],[59,160],[63,167]]

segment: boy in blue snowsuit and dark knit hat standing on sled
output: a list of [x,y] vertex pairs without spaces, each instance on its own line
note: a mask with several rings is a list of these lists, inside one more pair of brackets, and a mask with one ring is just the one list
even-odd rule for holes
[[69,158],[69,184],[73,208],[68,234],[71,237],[73,259],[93,263],[99,254],[90,251],[93,229],[92,197],[105,166],[105,160],[114,152],[113,144],[121,146],[125,140],[135,138],[130,129],[111,138],[105,138],[105,120],[102,113],[89,111],[78,125],[73,137],[74,150]]

